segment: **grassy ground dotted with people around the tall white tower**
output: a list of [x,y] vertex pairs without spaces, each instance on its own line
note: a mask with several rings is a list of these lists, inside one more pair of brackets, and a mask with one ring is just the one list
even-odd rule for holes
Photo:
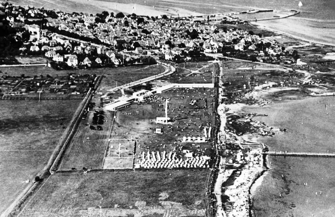
[[[203,128],[211,126],[213,111],[212,89],[175,89],[155,96],[151,102],[132,104],[117,112],[112,138],[136,139],[136,153],[142,151],[176,151],[189,149],[198,154],[211,155],[210,142],[182,143],[183,136],[203,136]],[[156,117],[164,117],[165,98],[170,99],[168,125],[156,124]],[[191,100],[197,103],[190,105]],[[207,100],[207,107],[206,101]],[[156,134],[161,128],[163,133]],[[182,156],[182,155],[181,155]]]

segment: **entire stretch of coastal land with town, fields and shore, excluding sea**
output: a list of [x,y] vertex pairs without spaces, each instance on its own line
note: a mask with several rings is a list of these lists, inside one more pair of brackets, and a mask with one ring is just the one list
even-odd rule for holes
[[1,217],[258,216],[269,157],[299,153],[265,144],[288,129],[257,108],[335,95],[332,46],[238,16],[269,12],[2,2]]

